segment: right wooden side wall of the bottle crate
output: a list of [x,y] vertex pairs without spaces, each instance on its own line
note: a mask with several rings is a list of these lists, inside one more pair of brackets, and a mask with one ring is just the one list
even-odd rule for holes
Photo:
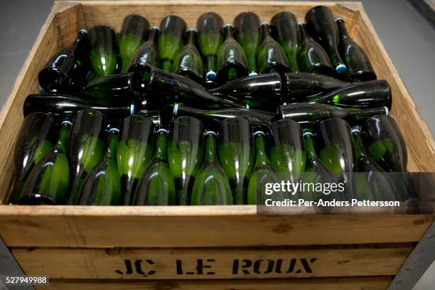
[[408,171],[435,172],[434,139],[364,11],[360,11],[354,38],[369,56],[377,77],[390,83],[392,117],[407,145]]

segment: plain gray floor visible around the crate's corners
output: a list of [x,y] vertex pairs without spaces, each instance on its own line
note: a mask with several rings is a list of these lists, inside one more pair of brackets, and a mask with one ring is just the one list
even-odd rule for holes
[[[0,4],[0,105],[6,101],[52,0]],[[435,135],[435,29],[406,0],[363,0],[365,10],[399,75]],[[394,97],[394,96],[393,96]],[[434,289],[435,264],[415,289]]]

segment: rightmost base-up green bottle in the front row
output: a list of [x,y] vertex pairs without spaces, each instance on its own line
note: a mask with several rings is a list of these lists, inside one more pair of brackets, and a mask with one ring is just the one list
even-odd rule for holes
[[363,126],[367,149],[385,171],[407,171],[407,147],[399,126],[390,116],[377,115]]

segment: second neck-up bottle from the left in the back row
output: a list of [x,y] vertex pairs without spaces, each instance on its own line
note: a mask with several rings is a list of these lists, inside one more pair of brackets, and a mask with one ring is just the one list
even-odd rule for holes
[[157,41],[159,39],[159,28],[154,26],[149,31],[148,41],[139,46],[131,57],[129,71],[134,70],[132,67],[136,63],[146,63],[154,68],[160,65],[159,54],[157,53]]

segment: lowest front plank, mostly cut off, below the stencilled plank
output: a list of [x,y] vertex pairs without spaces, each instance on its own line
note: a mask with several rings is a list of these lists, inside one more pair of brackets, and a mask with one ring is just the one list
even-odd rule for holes
[[388,276],[358,278],[314,278],[314,279],[230,279],[230,280],[166,280],[166,281],[111,281],[50,279],[50,286],[36,289],[149,289],[149,290],[385,290],[390,284]]

